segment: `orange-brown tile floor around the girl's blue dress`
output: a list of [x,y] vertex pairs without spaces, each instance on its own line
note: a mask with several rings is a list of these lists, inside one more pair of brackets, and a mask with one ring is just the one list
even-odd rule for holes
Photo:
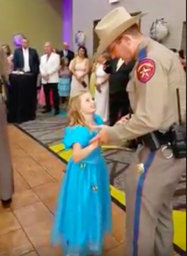
[[[11,208],[0,205],[0,256],[60,256],[49,233],[64,164],[14,126],[8,127],[15,193]],[[113,234],[103,256],[124,256],[125,212],[112,203]],[[177,254],[175,254],[177,256]]]

